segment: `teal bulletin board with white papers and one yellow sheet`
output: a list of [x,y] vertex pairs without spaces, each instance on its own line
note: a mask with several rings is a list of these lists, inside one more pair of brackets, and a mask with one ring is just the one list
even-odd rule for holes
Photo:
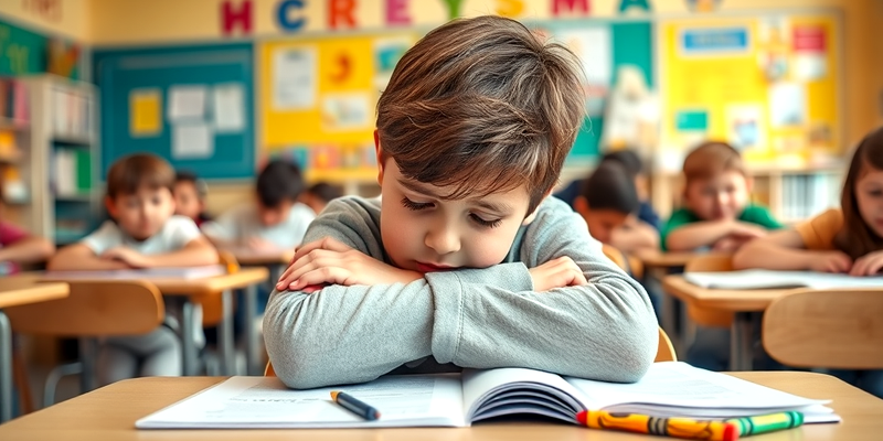
[[102,176],[151,152],[203,179],[255,174],[252,44],[97,50]]

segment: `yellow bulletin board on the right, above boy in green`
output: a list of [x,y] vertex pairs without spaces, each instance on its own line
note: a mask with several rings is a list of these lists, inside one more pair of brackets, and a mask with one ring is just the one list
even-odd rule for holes
[[753,163],[840,157],[839,15],[671,19],[658,29],[663,157],[705,139],[727,140]]

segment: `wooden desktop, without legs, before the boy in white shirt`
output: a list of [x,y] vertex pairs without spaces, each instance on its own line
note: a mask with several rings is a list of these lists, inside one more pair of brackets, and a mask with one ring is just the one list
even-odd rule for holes
[[[164,295],[200,295],[217,293],[228,289],[245,288],[247,286],[267,280],[268,275],[269,272],[266,268],[242,268],[234,273],[212,276],[200,279],[146,278],[143,280],[153,283]],[[88,282],[95,280],[76,278],[75,280],[72,279],[71,282]],[[54,281],[64,280],[58,279]]]

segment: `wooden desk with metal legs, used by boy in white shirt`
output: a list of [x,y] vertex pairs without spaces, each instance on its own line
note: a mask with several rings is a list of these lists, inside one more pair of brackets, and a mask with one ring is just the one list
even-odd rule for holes
[[[195,333],[195,326],[199,326],[199,324],[195,322],[195,316],[193,314],[193,298],[200,295],[222,297],[224,320],[219,326],[219,346],[221,346],[225,370],[231,372],[233,365],[232,290],[245,288],[245,314],[248,318],[253,318],[257,315],[255,306],[257,290],[255,284],[266,279],[267,270],[265,268],[245,268],[234,273],[199,279],[156,277],[143,279],[153,283],[162,295],[181,297],[183,299],[181,310],[181,349],[184,375],[195,375],[196,369],[198,354],[193,335]],[[52,279],[51,276],[44,276],[42,280],[64,281],[64,279]],[[76,280],[89,281],[89,279],[84,279],[82,277],[77,277]],[[246,359],[248,364],[254,364],[255,359],[259,358],[260,355],[257,347],[257,334],[254,331],[248,332],[247,330],[249,327],[251,326],[246,326]]]

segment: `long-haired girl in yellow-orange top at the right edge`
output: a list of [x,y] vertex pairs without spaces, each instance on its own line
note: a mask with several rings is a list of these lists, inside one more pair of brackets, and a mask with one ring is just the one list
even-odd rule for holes
[[[872,276],[883,271],[883,128],[869,133],[852,157],[840,209],[746,245],[733,266]],[[883,370],[831,374],[883,398]]]

